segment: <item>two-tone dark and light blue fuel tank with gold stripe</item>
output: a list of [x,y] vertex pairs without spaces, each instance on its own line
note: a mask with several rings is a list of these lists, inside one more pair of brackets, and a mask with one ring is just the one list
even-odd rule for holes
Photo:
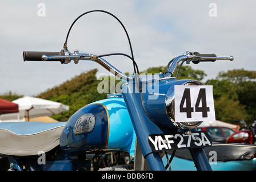
[[135,132],[121,94],[109,94],[75,112],[67,121],[60,138],[66,152],[135,151]]

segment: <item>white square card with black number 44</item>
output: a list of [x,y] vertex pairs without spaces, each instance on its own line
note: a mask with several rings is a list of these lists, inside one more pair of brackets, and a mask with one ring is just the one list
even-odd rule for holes
[[174,85],[175,122],[215,121],[212,85]]

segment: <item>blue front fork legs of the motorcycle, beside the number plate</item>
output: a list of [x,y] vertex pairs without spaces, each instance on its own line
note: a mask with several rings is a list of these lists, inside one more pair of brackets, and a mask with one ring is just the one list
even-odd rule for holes
[[[122,95],[129,111],[134,130],[141,147],[142,154],[152,171],[165,171],[159,152],[153,152],[147,137],[150,134],[168,133],[170,130],[156,125],[145,113],[141,101],[141,92],[135,89],[135,84],[123,84]],[[211,170],[209,161],[203,148],[192,148],[190,154],[197,170]]]

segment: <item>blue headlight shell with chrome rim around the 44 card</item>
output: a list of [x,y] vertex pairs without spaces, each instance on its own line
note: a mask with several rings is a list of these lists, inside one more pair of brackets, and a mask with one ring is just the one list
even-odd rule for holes
[[[175,122],[174,85],[203,85],[197,80],[168,78],[149,82],[142,88],[142,105],[147,116],[157,125],[192,129],[202,122]],[[157,88],[157,89],[156,89]]]

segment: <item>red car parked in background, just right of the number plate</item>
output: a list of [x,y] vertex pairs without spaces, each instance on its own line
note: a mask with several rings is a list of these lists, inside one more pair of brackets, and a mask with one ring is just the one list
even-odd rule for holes
[[209,135],[215,135],[217,137],[222,137],[227,139],[230,135],[235,133],[234,130],[230,129],[229,127],[223,126],[205,126],[205,127],[197,127],[198,131],[207,131]]

